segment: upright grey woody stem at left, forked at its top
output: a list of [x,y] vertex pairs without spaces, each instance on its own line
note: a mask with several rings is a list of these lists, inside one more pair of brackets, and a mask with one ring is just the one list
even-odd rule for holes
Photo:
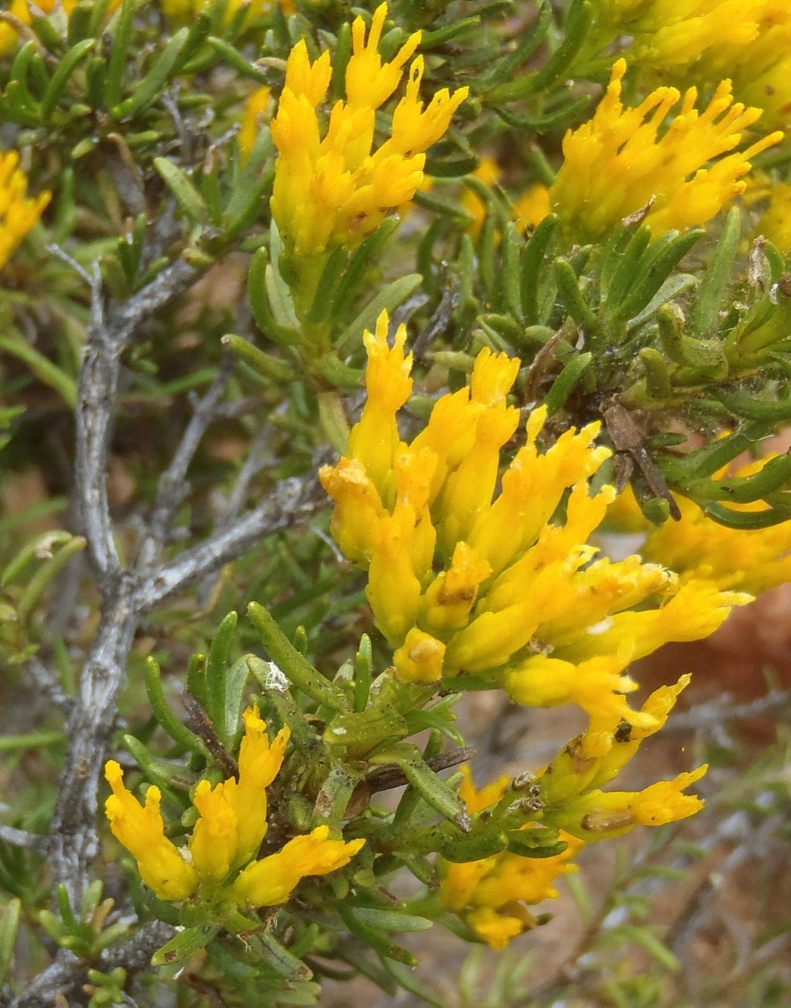
[[138,328],[196,275],[195,267],[179,260],[110,313],[98,265],[91,277],[91,326],[75,411],[74,496],[103,603],[68,720],[69,746],[50,827],[53,876],[66,885],[72,902],[82,898],[99,852],[99,779],[140,618],[132,604],[137,579],[121,569],[107,492],[121,358]]

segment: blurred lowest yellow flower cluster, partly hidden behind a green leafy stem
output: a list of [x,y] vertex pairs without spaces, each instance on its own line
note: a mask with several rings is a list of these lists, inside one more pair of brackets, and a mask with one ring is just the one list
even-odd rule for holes
[[[510,786],[510,778],[505,776],[479,791],[469,767],[464,766],[462,770],[464,780],[459,794],[472,813],[495,805]],[[527,824],[524,829],[534,826]],[[555,880],[577,871],[577,866],[569,862],[583,843],[570,834],[562,833],[560,839],[569,846],[551,858],[523,858],[506,851],[481,861],[442,862],[444,876],[440,895],[443,904],[460,913],[478,937],[492,949],[504,949],[511,938],[534,925],[526,906],[557,898]]]

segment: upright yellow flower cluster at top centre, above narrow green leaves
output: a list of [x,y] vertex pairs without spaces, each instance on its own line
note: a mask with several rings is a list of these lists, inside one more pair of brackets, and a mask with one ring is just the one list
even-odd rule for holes
[[423,181],[424,152],[445,133],[467,97],[467,88],[453,95],[446,88],[424,108],[424,60],[417,56],[410,66],[407,93],[392,114],[390,137],[371,152],[376,109],[398,88],[421,39],[419,31],[411,35],[392,59],[382,62],[378,46],[386,15],[387,5],[381,4],[367,38],[363,19],[354,20],[346,101],[333,105],[326,130],[318,107],[332,76],[330,54],[324,52],[311,64],[302,40],[289,55],[286,85],[272,121],[280,152],[272,213],[297,255],[357,245],[386,214],[409,203]]

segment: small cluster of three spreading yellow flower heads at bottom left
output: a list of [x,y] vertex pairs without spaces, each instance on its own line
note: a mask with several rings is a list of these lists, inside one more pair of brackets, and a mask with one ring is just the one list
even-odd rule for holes
[[325,875],[348,864],[364,844],[331,840],[329,828],[322,826],[254,860],[267,834],[266,788],[280,770],[290,733],[283,729],[270,744],[258,708],[249,708],[244,719],[239,779],[213,787],[208,780],[198,783],[193,800],[200,815],[188,850],[180,851],[165,837],[159,788],[149,787],[142,806],[126,788],[118,763],[107,764],[113,793],[105,808],[113,834],[160,899],[197,895],[210,900],[221,892],[240,907],[273,906],[284,902],[305,876]]

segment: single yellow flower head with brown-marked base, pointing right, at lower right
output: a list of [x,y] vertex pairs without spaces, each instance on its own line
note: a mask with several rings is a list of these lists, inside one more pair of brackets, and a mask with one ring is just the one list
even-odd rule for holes
[[707,764],[673,780],[660,780],[642,791],[588,791],[558,809],[544,811],[543,822],[561,827],[581,840],[620,837],[636,826],[666,826],[694,815],[702,798],[683,794],[708,769]]

